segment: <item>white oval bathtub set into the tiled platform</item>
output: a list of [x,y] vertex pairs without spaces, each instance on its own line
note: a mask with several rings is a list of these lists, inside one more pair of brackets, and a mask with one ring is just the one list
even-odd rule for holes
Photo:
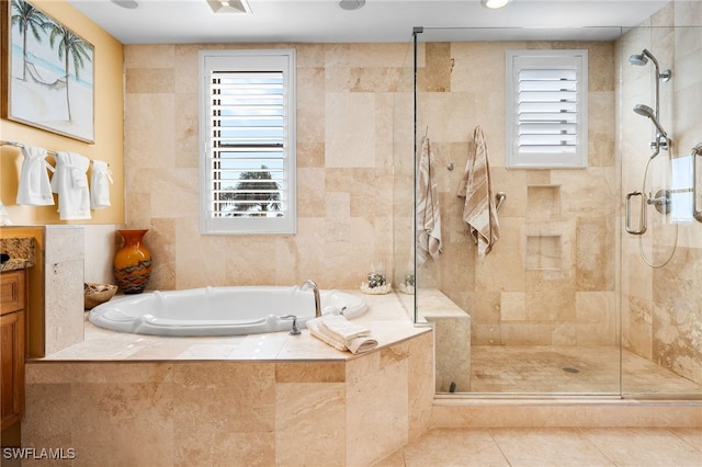
[[[339,291],[319,291],[322,314],[349,319],[365,314],[365,300]],[[298,286],[203,287],[149,292],[113,298],[94,307],[90,322],[113,331],[151,335],[241,335],[290,331],[315,316],[313,292]]]

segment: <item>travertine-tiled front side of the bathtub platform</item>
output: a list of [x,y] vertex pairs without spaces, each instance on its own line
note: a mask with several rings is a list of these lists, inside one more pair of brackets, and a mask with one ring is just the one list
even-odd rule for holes
[[427,430],[432,343],[347,362],[29,362],[22,440],[76,465],[373,465]]

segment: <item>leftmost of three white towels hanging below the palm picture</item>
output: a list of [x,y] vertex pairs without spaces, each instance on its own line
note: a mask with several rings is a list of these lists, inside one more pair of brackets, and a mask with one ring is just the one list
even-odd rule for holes
[[48,170],[54,167],[46,161],[47,151],[37,146],[22,146],[22,170],[18,186],[18,204],[30,206],[50,206],[54,204]]

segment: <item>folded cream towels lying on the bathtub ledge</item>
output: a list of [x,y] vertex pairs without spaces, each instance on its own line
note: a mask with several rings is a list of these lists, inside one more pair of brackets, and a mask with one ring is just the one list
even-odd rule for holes
[[325,315],[321,318],[308,320],[306,326],[312,335],[339,351],[359,354],[377,346],[377,341],[370,337],[370,329],[349,322],[342,316]]

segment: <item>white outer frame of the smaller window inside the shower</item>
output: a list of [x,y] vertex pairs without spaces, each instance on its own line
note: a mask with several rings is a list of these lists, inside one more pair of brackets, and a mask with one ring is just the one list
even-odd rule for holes
[[[576,71],[575,152],[520,151],[519,75],[522,70]],[[506,167],[508,169],[585,169],[588,167],[588,50],[507,50]],[[563,111],[562,111],[563,112]],[[555,147],[555,146],[554,146]]]

